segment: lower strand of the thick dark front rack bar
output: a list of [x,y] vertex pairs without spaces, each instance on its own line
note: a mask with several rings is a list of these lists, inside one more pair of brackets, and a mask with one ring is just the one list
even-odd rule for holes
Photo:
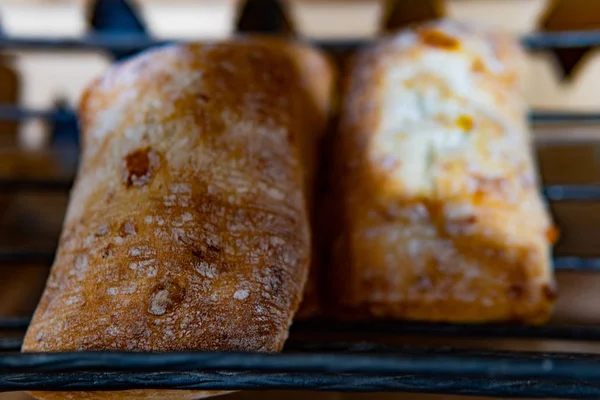
[[597,399],[595,382],[548,381],[543,379],[489,379],[465,377],[420,377],[415,374],[325,374],[325,373],[93,373],[47,376],[40,373],[0,377],[0,390],[317,390],[333,392],[419,392],[479,395],[502,398]]

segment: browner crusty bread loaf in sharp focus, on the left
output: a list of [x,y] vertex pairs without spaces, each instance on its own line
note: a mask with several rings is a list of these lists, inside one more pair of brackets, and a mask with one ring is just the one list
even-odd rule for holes
[[318,58],[274,40],[169,46],[86,91],[82,161],[23,351],[282,348],[309,269],[323,109],[297,51]]

